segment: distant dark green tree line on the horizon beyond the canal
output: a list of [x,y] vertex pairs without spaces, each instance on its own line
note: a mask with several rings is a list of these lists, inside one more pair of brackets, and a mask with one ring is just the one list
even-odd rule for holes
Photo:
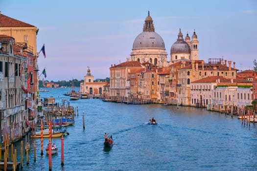
[[[80,83],[84,82],[84,80],[77,80],[77,79],[73,79],[73,80],[69,80],[69,81],[65,81],[65,80],[62,80],[62,81],[48,81],[48,80],[45,80],[45,86],[46,86],[46,83],[54,83],[54,84],[58,84],[59,87],[60,86],[67,86],[67,87],[70,87],[72,86],[72,82],[73,82],[73,86],[77,86],[77,87],[80,87]],[[110,78],[105,78],[105,79],[95,79],[93,82],[110,82]],[[44,87],[43,86],[43,82],[42,80],[39,80],[39,87]]]

